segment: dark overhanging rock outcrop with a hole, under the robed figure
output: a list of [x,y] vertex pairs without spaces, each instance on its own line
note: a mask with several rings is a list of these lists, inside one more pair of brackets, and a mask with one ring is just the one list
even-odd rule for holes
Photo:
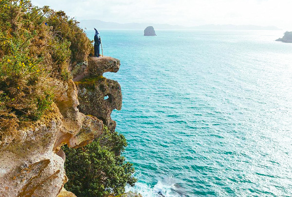
[[[110,114],[113,109],[120,110],[122,107],[122,91],[119,83],[103,77],[104,72],[117,72],[120,61],[111,57],[91,57],[88,65],[79,70],[79,75],[74,76],[78,89],[79,110],[90,114],[103,121],[110,130],[116,127],[115,121],[111,120]],[[92,105],[94,103],[94,105]]]

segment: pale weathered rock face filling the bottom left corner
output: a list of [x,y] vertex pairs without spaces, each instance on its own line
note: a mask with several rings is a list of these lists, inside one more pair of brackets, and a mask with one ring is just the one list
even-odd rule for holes
[[64,161],[53,152],[61,127],[56,107],[34,128],[0,149],[1,197],[54,197],[67,181]]

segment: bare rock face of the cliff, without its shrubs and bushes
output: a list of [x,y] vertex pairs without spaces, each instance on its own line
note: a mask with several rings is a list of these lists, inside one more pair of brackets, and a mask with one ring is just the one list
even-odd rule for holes
[[91,143],[103,125],[115,129],[110,114],[121,109],[121,87],[102,74],[119,67],[118,59],[92,57],[70,68],[73,80],[51,81],[56,87],[52,109],[19,136],[0,142],[0,197],[74,196],[63,189],[67,177],[61,146]]

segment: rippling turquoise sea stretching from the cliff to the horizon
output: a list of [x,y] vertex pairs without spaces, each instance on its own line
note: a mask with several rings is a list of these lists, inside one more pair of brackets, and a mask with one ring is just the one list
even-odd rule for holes
[[[144,197],[292,196],[292,44],[278,31],[100,30]],[[93,38],[93,31],[88,31]],[[161,195],[160,195],[161,196]]]

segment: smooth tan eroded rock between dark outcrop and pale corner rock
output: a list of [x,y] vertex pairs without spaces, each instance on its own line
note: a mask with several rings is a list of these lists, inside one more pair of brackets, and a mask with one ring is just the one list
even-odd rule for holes
[[[55,82],[55,84],[58,83]],[[54,151],[59,151],[63,144],[74,148],[87,145],[101,135],[103,122],[94,116],[79,112],[77,88],[73,81],[62,82],[56,90],[55,103],[63,116],[63,124],[58,133]]]

